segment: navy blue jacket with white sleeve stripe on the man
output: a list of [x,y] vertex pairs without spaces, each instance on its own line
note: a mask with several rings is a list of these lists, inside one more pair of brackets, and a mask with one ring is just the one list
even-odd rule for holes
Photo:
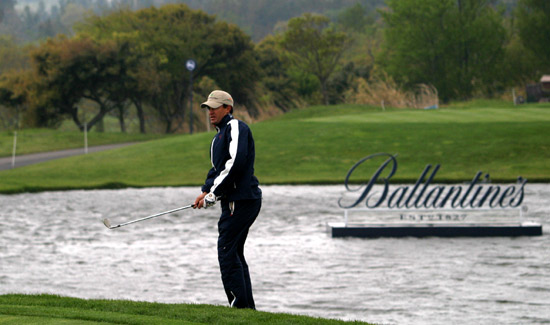
[[202,191],[213,192],[230,202],[261,198],[262,191],[254,176],[254,139],[248,125],[227,114],[216,129],[218,133],[210,147],[212,169]]

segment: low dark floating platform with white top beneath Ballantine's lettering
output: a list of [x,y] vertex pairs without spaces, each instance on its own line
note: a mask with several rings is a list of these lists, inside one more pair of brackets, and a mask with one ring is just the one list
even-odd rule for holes
[[327,224],[332,237],[517,237],[542,236],[542,225],[523,223],[343,223]]

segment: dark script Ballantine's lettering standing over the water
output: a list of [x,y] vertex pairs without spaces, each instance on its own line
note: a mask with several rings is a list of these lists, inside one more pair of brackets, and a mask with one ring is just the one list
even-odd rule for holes
[[[394,155],[377,153],[359,160],[349,170],[346,176],[346,189],[350,192],[350,177],[353,171],[365,161],[379,156],[388,157],[378,170],[373,174],[365,189],[354,203],[345,205],[340,198],[338,204],[341,208],[349,209],[365,202],[367,208],[390,208],[390,209],[480,209],[480,208],[517,208],[523,202],[524,187],[527,179],[518,178],[518,183],[508,186],[481,184],[482,172],[477,172],[470,184],[465,187],[459,185],[437,185],[430,187],[440,165],[436,165],[430,176],[426,176],[432,169],[427,165],[424,171],[413,186],[399,186],[390,192],[389,181],[397,171],[397,160]],[[382,177],[382,172],[391,165],[388,176]],[[488,174],[485,176],[489,177]],[[382,181],[382,193],[371,193],[377,181]]]

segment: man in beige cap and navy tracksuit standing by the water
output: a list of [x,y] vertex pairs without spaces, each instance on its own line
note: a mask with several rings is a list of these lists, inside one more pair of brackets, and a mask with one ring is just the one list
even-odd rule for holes
[[214,90],[202,108],[218,133],[212,139],[212,169],[195,200],[195,208],[207,208],[221,201],[218,222],[218,261],[222,282],[231,307],[256,309],[244,243],[262,204],[262,191],[254,176],[254,139],[248,126],[233,118],[233,99]]

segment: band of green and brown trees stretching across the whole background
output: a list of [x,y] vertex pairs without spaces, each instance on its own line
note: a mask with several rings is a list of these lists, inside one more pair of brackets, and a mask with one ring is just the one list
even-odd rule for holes
[[512,10],[491,0],[386,5],[306,13],[258,42],[184,4],[89,14],[74,34],[38,44],[0,36],[0,120],[55,127],[70,118],[83,130],[111,114],[124,131],[132,112],[140,132],[155,116],[172,133],[199,114],[188,105],[191,86],[199,98],[225,89],[254,117],[359,102],[362,92],[382,92],[373,88],[380,82],[404,92],[429,85],[446,102],[499,96],[550,73],[545,0],[518,0]]

